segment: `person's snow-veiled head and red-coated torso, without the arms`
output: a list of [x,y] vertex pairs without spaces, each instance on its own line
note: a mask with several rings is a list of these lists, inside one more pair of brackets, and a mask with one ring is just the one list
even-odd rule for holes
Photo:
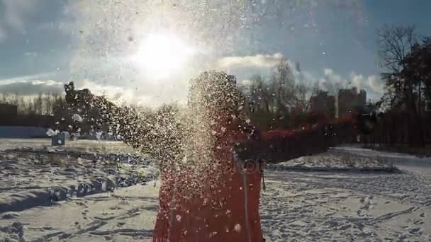
[[191,85],[184,161],[164,164],[153,241],[264,241],[261,163],[235,157],[250,138],[229,76],[203,73]]

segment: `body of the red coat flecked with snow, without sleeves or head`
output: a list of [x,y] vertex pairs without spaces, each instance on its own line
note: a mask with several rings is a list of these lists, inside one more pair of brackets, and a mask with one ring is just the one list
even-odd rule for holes
[[[185,198],[181,190],[174,192],[175,178],[167,175],[162,180],[153,241],[263,241],[259,217],[262,167],[257,162],[245,165],[233,155],[234,143],[245,138],[235,131],[218,138],[215,160],[230,172],[217,177],[220,184],[212,183],[212,188],[206,184],[201,196]],[[206,175],[217,173],[208,171]],[[199,179],[188,174],[176,177],[191,179],[189,183]]]

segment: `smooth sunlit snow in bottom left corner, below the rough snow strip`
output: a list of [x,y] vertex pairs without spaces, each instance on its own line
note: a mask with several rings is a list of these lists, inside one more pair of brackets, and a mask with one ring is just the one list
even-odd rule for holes
[[0,241],[152,241],[158,190],[135,185],[1,214]]

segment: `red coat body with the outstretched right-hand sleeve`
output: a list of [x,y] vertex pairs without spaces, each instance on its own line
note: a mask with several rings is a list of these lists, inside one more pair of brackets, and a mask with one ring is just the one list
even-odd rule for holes
[[[339,122],[348,123],[350,119]],[[265,132],[257,135],[258,142],[251,142],[251,149],[238,154],[254,159],[260,156],[272,162],[317,154],[330,144],[321,128]],[[263,241],[259,218],[262,163],[247,163],[245,169],[245,163],[233,154],[235,143],[246,141],[245,134],[234,130],[217,138],[218,149],[213,152],[219,166],[215,171],[230,171],[223,175],[208,170],[196,177],[186,171],[173,174],[173,169],[167,169],[162,175],[153,241]],[[181,186],[190,188],[194,183],[204,184],[203,192],[186,197]]]

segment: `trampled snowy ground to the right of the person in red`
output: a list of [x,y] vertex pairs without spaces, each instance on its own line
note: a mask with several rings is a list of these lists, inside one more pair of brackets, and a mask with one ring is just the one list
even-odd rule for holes
[[402,173],[267,172],[261,215],[269,241],[430,241],[431,159],[358,147],[328,154],[378,156]]

